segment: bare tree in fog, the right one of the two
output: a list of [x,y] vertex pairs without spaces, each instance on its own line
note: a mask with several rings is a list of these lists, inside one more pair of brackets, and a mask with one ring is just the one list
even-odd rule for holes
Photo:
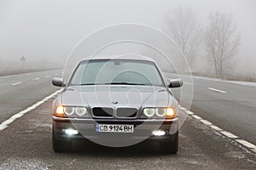
[[236,33],[231,14],[210,14],[205,32],[207,56],[214,64],[215,73],[223,77],[224,71],[235,65],[240,37]]

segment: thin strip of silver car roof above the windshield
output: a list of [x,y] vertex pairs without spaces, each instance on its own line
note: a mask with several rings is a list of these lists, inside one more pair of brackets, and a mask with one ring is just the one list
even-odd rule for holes
[[132,59],[132,60],[147,60],[155,62],[154,59],[138,55],[138,54],[122,54],[122,55],[95,55],[92,57],[87,57],[84,60],[93,60],[93,59]]

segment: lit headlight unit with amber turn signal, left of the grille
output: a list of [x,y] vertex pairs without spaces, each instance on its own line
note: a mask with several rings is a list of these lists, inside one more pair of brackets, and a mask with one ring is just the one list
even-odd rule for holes
[[55,109],[55,116],[84,116],[88,114],[86,107],[73,107],[73,106],[62,106],[59,105]]

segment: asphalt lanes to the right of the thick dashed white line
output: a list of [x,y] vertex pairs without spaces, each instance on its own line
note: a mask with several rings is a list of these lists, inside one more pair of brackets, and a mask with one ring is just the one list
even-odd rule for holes
[[[184,92],[193,90],[191,108],[212,124],[256,144],[256,83],[255,86],[241,85],[203,77],[180,77],[184,81]],[[177,98],[180,89],[174,89]],[[189,95],[183,93],[184,103]],[[189,93],[187,93],[189,94]]]

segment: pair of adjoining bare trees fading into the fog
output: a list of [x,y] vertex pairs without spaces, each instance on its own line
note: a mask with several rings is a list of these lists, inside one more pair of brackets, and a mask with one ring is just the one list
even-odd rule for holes
[[232,14],[215,12],[201,26],[191,8],[179,7],[165,15],[165,31],[176,42],[190,66],[202,51],[219,77],[236,64],[240,36]]

